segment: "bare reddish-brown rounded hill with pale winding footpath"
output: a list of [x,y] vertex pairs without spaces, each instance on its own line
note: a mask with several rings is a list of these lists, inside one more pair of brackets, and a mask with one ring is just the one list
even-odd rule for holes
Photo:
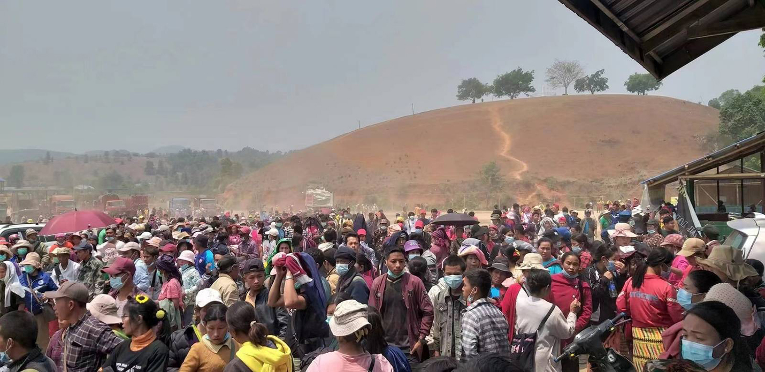
[[467,104],[381,122],[294,152],[230,184],[223,199],[236,208],[299,209],[303,191],[321,185],[334,191],[338,205],[478,207],[487,197],[478,172],[491,161],[506,180],[493,202],[635,196],[639,181],[703,155],[694,135],[718,123],[716,109],[662,96]]

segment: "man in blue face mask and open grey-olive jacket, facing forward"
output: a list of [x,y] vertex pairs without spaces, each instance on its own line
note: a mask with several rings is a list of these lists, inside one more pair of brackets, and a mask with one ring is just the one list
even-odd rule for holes
[[441,289],[433,301],[433,348],[435,356],[447,356],[460,359],[462,348],[462,311],[467,303],[462,295],[462,274],[465,261],[460,256],[451,255],[444,259],[444,282],[447,287]]

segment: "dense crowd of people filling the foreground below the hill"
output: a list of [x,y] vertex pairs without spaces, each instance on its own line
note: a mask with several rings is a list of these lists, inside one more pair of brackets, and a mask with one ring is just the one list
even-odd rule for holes
[[[765,366],[763,263],[673,207],[117,218],[0,240],[10,371],[578,371],[590,325],[636,370]],[[597,215],[596,215],[597,214]],[[692,362],[692,363],[690,363]],[[686,366],[687,367],[687,366]],[[696,369],[693,369],[696,368]]]

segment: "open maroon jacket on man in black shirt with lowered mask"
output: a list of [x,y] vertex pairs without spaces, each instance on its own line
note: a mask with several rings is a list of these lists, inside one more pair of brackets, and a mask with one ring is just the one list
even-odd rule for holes
[[[372,282],[369,289],[369,306],[382,312],[382,299],[385,298],[385,286],[388,275],[381,275]],[[418,277],[404,272],[401,277],[401,289],[406,305],[406,330],[409,332],[409,346],[414,346],[418,339],[430,334],[433,325],[433,304],[425,291],[425,285]]]

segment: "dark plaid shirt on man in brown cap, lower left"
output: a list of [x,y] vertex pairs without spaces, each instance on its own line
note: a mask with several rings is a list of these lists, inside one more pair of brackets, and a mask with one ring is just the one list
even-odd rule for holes
[[64,331],[63,371],[96,372],[122,341],[112,332],[112,328],[86,312],[77,323]]

